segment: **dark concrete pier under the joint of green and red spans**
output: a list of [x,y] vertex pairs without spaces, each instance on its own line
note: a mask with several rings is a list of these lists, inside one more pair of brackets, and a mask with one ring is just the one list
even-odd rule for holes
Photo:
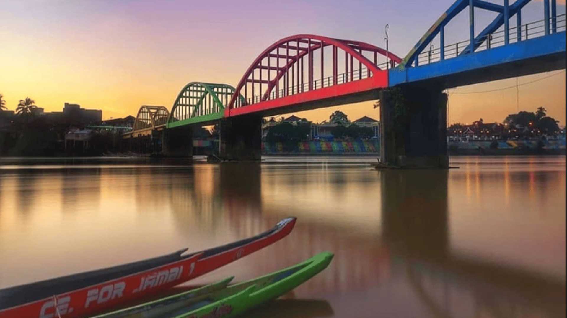
[[262,157],[262,117],[242,115],[221,119],[220,157],[258,161]]

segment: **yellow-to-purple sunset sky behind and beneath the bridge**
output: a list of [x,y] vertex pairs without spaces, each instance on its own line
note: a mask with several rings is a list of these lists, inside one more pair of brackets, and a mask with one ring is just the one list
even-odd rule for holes
[[[490,0],[502,4],[502,0]],[[3,0],[0,93],[9,109],[27,96],[45,111],[65,102],[103,110],[103,118],[136,115],[141,105],[171,108],[190,81],[236,86],[264,49],[310,33],[381,47],[404,57],[453,0]],[[511,0],[510,3],[514,1]],[[565,0],[558,1],[565,13]],[[476,32],[495,14],[476,9]],[[543,19],[543,2],[522,11]],[[510,20],[515,25],[515,18]],[[446,44],[468,38],[468,9],[446,28]],[[545,78],[547,76],[557,74]],[[534,83],[530,81],[545,78]],[[564,70],[451,89],[449,123],[501,122],[538,106],[565,124]],[[513,87],[501,91],[481,92]],[[518,100],[517,100],[518,97]],[[298,113],[316,122],[340,109],[378,119],[373,101]]]

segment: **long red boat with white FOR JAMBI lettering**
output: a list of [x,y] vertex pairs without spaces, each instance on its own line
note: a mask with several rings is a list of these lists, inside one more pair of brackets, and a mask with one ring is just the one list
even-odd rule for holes
[[0,318],[77,318],[140,299],[261,250],[293,230],[285,218],[255,237],[184,255],[168,255],[0,290]]

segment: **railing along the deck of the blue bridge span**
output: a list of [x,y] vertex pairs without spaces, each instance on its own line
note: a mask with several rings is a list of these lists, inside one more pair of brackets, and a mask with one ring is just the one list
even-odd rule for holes
[[[523,24],[519,27],[519,31],[518,26],[510,27],[508,31],[509,43],[511,44],[519,41],[530,40],[531,38],[535,37],[545,36],[545,21],[546,20],[543,19]],[[565,31],[565,14],[560,14],[555,17],[549,18],[548,23],[551,22],[557,23],[557,32]],[[489,50],[491,48],[497,48],[498,46],[506,45],[505,31],[501,30],[488,34],[480,38],[479,42],[482,42],[482,44],[475,49],[475,52]],[[445,45],[445,49],[443,50],[445,53],[445,59],[458,57],[460,54],[468,54],[469,44],[469,40],[464,40]],[[429,50],[424,50],[421,54],[418,55],[418,66],[439,61],[441,61],[441,48],[434,48],[434,46],[431,46]]]

